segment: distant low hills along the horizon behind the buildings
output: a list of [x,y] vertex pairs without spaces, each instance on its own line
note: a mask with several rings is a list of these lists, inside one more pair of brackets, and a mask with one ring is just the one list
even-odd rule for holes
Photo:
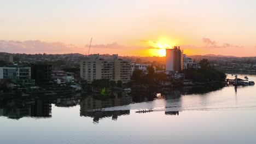
[[[79,62],[86,55],[81,53],[66,53],[66,54],[26,54],[26,53],[13,53],[14,61],[72,61]],[[111,57],[109,54],[100,55],[101,57]],[[121,58],[131,59],[136,63],[165,63],[165,57],[139,57],[139,56],[120,56]],[[253,63],[256,64],[256,57],[236,57],[236,56],[223,56],[223,55],[188,55],[194,59],[195,62],[200,62],[205,58],[212,63]]]

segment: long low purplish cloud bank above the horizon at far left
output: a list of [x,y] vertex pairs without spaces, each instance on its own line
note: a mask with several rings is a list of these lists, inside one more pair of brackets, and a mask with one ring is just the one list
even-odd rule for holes
[[70,53],[79,52],[80,50],[81,48],[77,46],[60,42],[0,40],[0,51],[10,53]]

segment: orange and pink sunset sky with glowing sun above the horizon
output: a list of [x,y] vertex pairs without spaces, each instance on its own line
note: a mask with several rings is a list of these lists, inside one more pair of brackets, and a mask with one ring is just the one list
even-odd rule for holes
[[1,0],[0,52],[256,56],[253,0]]

